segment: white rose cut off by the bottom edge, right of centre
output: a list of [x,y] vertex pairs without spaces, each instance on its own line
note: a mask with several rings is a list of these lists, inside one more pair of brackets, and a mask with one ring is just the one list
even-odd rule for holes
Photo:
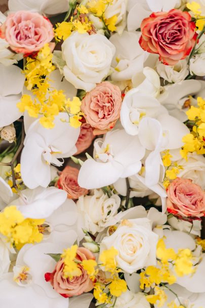
[[[107,307],[110,307],[108,305]],[[133,293],[132,291],[123,292],[117,297],[115,308],[150,308],[150,304],[143,293]]]

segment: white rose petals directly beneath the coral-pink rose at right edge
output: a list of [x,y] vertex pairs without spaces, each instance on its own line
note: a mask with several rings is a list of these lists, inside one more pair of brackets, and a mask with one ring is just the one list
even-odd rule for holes
[[176,217],[168,218],[169,224],[176,230],[183,231],[186,233],[190,233],[200,237],[201,234],[201,222],[200,220],[193,220],[193,224],[191,222],[177,219]]

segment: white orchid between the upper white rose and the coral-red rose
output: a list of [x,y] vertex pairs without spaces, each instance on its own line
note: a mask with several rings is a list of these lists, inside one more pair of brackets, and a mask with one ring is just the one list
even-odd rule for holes
[[143,69],[143,63],[148,54],[139,45],[140,33],[124,31],[110,37],[110,42],[115,46],[116,51],[112,59],[113,72],[111,80],[131,80],[136,72]]

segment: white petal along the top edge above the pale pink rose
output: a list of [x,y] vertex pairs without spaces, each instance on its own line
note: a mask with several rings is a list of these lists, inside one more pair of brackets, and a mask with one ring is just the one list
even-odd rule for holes
[[11,12],[22,10],[56,15],[67,12],[68,9],[69,1],[67,0],[9,0],[9,10]]

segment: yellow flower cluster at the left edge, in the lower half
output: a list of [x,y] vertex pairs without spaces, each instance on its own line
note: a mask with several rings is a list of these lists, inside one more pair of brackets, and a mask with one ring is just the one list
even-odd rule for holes
[[39,243],[43,234],[39,226],[45,219],[24,218],[16,206],[9,206],[0,213],[0,233],[17,249],[28,243]]

